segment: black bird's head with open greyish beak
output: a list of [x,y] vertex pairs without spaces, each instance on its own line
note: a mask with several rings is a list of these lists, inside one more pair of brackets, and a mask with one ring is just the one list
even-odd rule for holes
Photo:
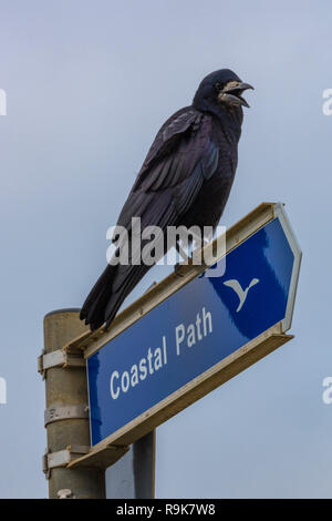
[[248,106],[242,98],[243,91],[253,89],[249,83],[243,83],[240,78],[229,69],[208,74],[199,84],[193,105],[203,111],[212,108],[221,108],[234,111],[241,106]]

